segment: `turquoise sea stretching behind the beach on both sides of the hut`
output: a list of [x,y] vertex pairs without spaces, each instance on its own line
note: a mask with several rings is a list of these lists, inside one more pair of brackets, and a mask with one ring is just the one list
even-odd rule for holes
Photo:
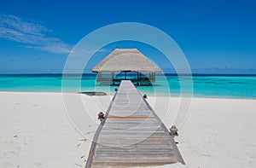
[[[96,75],[71,75],[62,78],[61,74],[13,74],[0,75],[0,91],[105,91],[113,95],[117,86],[96,84]],[[61,87],[62,86],[62,87]],[[193,86],[193,90],[190,86]],[[197,97],[256,98],[255,75],[194,75],[177,77],[176,75],[158,75],[154,86],[138,86],[149,96],[186,96],[193,92]]]

